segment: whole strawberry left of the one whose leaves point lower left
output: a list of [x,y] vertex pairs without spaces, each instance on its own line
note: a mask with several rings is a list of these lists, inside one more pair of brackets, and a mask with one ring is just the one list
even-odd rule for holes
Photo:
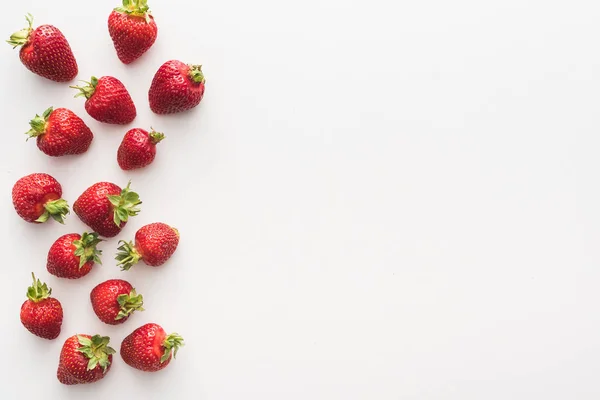
[[48,251],[48,272],[67,279],[86,276],[94,263],[102,264],[102,250],[96,249],[101,241],[95,232],[84,232],[83,235],[69,233],[59,237]]

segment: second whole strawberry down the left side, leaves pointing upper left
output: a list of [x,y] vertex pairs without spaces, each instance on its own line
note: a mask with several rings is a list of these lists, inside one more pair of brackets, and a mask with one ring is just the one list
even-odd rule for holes
[[52,157],[85,153],[94,138],[85,122],[66,108],[50,107],[29,125],[29,138],[37,138],[38,148]]

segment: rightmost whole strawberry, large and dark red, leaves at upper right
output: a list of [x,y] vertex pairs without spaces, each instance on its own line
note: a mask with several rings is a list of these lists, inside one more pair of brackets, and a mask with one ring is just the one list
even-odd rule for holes
[[154,75],[148,98],[157,114],[186,111],[200,104],[204,96],[204,74],[201,65],[167,61]]

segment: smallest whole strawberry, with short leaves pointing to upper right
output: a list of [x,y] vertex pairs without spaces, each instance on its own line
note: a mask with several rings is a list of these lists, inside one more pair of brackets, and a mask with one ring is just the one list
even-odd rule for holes
[[143,129],[131,129],[123,137],[117,151],[117,161],[121,169],[143,168],[154,161],[156,145],[165,138],[160,132],[150,133]]

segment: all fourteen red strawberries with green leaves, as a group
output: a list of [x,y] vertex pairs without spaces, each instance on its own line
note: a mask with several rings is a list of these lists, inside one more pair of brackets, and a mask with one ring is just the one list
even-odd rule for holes
[[[33,29],[29,26],[10,37],[8,43],[22,46],[20,58],[33,73],[57,82],[73,80],[78,73],[75,56],[64,35],[52,25]],[[142,56],[155,42],[157,26],[146,0],[123,0],[109,16],[108,28],[119,59],[129,64]],[[85,109],[94,119],[109,124],[128,124],[136,117],[136,108],[127,89],[118,79],[92,77],[85,86],[71,86],[84,96]],[[150,108],[157,114],[189,110],[204,95],[204,75],[198,65],[172,60],[163,64],[152,81],[148,94]],[[30,122],[29,137],[35,137],[38,148],[53,157],[81,154],[93,140],[91,130],[72,111],[49,108]],[[117,161],[124,170],[142,168],[156,155],[156,144],[164,138],[159,132],[131,129],[117,151]],[[27,222],[43,223],[50,218],[64,223],[69,205],[62,198],[62,187],[52,176],[35,173],[19,179],[12,190],[15,210]],[[140,212],[142,204],[128,184],[124,189],[110,182],[90,186],[73,204],[77,216],[92,232],[71,233],[58,238],[50,247],[47,270],[67,279],[87,275],[94,264],[101,264],[100,237],[117,236],[129,217]],[[122,270],[139,261],[150,266],[167,262],[179,244],[177,229],[153,223],[140,228],[135,242],[119,241],[116,259]],[[52,290],[33,275],[27,300],[21,307],[21,322],[33,334],[55,339],[63,321],[60,302],[51,297]],[[110,325],[124,323],[135,311],[143,311],[143,297],[127,281],[111,279],[97,285],[90,293],[92,308],[98,318]],[[57,377],[61,383],[74,385],[102,379],[110,370],[115,350],[109,337],[79,334],[69,337],[61,350]],[[130,366],[143,371],[166,367],[183,338],[167,335],[154,323],[133,331],[121,343],[121,357]]]

